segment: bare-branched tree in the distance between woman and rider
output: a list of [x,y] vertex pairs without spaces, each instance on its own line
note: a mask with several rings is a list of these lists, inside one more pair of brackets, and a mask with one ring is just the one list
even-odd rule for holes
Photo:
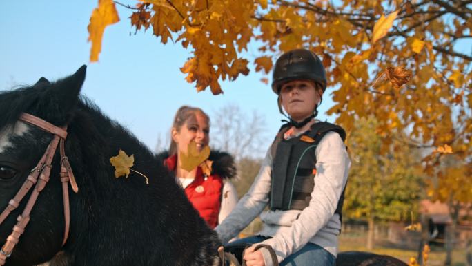
[[231,153],[236,162],[261,158],[266,148],[262,146],[265,127],[264,117],[256,111],[247,115],[239,106],[228,104],[213,112],[210,145]]

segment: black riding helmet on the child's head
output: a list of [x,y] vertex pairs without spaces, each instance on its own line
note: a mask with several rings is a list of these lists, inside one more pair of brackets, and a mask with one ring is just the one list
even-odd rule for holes
[[280,87],[285,82],[294,79],[310,79],[326,89],[326,71],[322,61],[306,49],[296,49],[284,53],[275,62],[272,75],[272,90],[279,94]]

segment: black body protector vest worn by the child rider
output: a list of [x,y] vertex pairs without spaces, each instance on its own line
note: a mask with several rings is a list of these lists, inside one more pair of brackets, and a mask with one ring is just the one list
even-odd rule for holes
[[[340,134],[343,141],[346,139],[346,132],[342,127],[328,122],[316,122],[310,131],[284,140],[284,133],[290,127],[289,124],[282,126],[271,147],[273,165],[269,207],[272,211],[302,210],[308,207],[315,186],[317,145],[330,131]],[[340,215],[340,220],[344,189],[335,211]]]

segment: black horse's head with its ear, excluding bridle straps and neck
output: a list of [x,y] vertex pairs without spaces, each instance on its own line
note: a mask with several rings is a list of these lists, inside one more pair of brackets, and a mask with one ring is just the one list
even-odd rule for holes
[[[41,117],[57,126],[64,126],[72,115],[79,99],[79,91],[85,79],[86,67],[80,68],[74,75],[55,83],[41,78],[28,88],[9,91],[0,95],[0,206],[1,210],[19,191],[30,171],[35,167],[46,146],[52,140],[52,134],[19,121],[22,113]],[[55,160],[57,169],[57,160]],[[57,180],[58,172],[52,172],[50,178]],[[30,193],[28,193],[30,194]],[[57,238],[63,234],[63,203],[60,182],[51,182],[41,193],[38,204],[32,210],[30,225],[17,244],[17,248],[8,258],[8,265],[31,265],[53,256],[61,247]],[[26,199],[4,220],[0,227],[1,245],[12,231],[17,217],[24,209]],[[28,239],[35,239],[34,241]]]

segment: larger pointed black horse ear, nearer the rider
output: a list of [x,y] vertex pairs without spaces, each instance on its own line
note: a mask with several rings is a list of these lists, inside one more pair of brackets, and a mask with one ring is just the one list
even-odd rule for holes
[[[36,110],[39,117],[56,124],[65,124],[75,111],[79,101],[79,93],[86,77],[87,66],[83,65],[74,74],[51,83],[37,103]],[[39,79],[38,82],[41,82]]]

